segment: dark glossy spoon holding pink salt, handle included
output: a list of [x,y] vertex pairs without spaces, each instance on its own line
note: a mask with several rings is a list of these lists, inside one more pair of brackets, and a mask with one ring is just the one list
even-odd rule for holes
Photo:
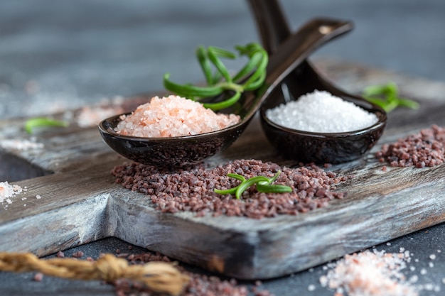
[[[104,141],[117,153],[138,163],[176,168],[199,163],[229,147],[245,130],[252,116],[289,72],[292,72],[316,48],[328,40],[350,30],[350,23],[318,18],[309,21],[299,31],[281,43],[269,57],[267,78],[257,92],[245,92],[240,102],[224,113],[241,116],[238,124],[220,131],[194,136],[169,138],[138,138],[114,132],[119,116],[112,116],[99,124]],[[325,30],[328,28],[328,30]]]

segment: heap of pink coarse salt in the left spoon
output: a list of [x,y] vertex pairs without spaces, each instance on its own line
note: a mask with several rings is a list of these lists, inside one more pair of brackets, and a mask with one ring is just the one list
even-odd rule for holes
[[115,131],[123,136],[161,138],[218,131],[237,124],[240,116],[215,114],[198,102],[171,95],[153,97],[121,120]]

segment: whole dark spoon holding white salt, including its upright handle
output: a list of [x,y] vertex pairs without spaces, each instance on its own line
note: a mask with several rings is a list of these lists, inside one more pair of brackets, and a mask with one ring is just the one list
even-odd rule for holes
[[[285,42],[291,31],[277,0],[249,0],[257,21],[257,27],[264,48],[273,54],[279,44]],[[328,28],[324,28],[328,29]],[[298,99],[315,89],[326,90],[336,97],[362,107],[377,115],[376,124],[348,133],[313,133],[285,128],[274,124],[266,116],[266,110],[279,104]],[[274,89],[262,104],[260,120],[269,142],[285,158],[304,163],[345,163],[356,160],[367,153],[377,143],[383,133],[387,115],[379,106],[370,104],[363,97],[348,94],[325,80],[312,65],[304,60],[282,82],[282,87]]]

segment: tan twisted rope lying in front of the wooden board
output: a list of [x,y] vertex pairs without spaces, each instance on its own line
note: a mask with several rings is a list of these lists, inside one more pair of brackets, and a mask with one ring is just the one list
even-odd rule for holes
[[171,263],[129,265],[126,260],[111,254],[105,254],[97,261],[82,261],[75,258],[43,260],[32,253],[0,252],[0,270],[16,273],[33,271],[71,280],[113,282],[125,278],[142,283],[155,292],[167,292],[170,295],[178,295],[188,283],[188,276],[179,272]]

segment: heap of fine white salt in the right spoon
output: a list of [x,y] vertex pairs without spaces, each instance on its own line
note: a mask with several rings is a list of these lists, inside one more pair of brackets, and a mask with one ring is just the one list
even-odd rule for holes
[[314,133],[358,131],[378,121],[375,114],[318,90],[269,109],[266,116],[280,126]]

